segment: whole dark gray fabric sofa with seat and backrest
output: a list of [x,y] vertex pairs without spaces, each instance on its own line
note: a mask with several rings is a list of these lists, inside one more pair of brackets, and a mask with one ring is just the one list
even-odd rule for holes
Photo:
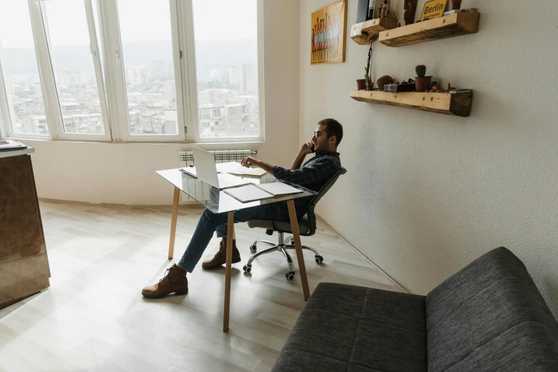
[[501,247],[427,296],[319,284],[272,371],[556,372],[558,323]]

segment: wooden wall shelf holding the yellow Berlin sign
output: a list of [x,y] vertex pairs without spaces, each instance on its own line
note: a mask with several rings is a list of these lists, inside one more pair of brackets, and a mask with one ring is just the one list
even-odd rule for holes
[[382,31],[380,32],[380,43],[387,46],[405,46],[476,33],[479,31],[479,18],[479,13],[456,13]]

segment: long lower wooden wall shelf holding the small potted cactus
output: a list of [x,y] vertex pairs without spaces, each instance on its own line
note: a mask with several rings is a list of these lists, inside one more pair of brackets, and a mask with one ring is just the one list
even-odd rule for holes
[[471,113],[473,93],[470,90],[451,91],[449,93],[405,92],[386,93],[382,91],[351,91],[351,98],[362,102],[380,103],[399,107],[415,108],[467,117]]

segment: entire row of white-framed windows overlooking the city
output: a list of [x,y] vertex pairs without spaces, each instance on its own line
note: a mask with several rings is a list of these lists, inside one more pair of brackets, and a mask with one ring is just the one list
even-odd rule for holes
[[262,1],[0,0],[0,128],[54,140],[263,138]]

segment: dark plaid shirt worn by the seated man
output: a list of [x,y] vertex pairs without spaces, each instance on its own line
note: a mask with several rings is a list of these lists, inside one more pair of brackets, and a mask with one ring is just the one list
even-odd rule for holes
[[285,169],[275,165],[273,176],[278,180],[292,182],[313,191],[320,191],[338,170],[341,170],[339,153],[320,151],[297,170]]

